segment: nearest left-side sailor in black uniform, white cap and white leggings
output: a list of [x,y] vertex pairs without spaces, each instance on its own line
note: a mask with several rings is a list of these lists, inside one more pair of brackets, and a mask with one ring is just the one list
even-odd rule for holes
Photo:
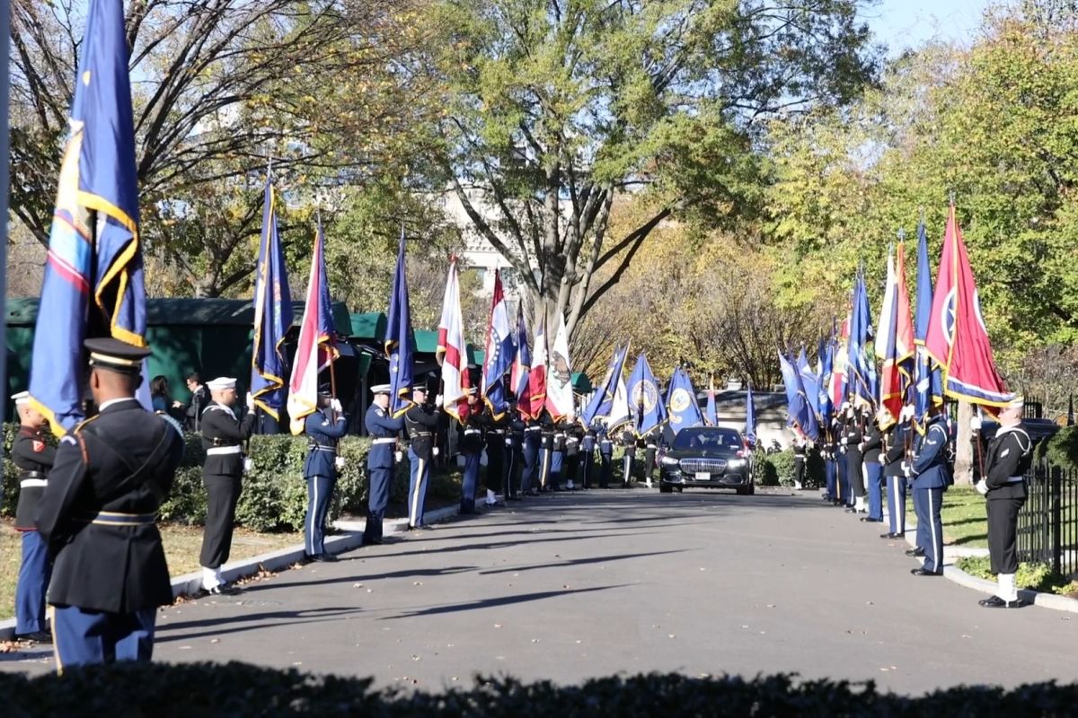
[[240,446],[254,431],[254,400],[247,394],[247,414],[236,418],[236,380],[220,377],[207,382],[211,402],[203,411],[203,448],[206,464],[203,483],[206,485],[206,526],[203,532],[203,589],[220,594],[235,588],[221,576],[221,566],[232,550],[232,530],[236,522],[236,504],[244,476],[244,449]]

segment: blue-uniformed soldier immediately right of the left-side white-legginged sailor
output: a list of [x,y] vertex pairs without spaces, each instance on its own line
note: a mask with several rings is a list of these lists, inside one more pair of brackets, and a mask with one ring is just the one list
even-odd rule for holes
[[312,561],[336,561],[326,552],[326,516],[333,498],[337,477],[337,441],[348,430],[341,402],[322,388],[318,410],[307,414],[303,424],[307,435],[307,459],[303,476],[307,480],[307,516],[303,522],[303,544]]

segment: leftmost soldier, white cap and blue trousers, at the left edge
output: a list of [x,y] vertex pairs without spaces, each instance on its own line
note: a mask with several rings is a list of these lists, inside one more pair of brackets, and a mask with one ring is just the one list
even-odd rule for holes
[[23,561],[15,585],[15,637],[52,643],[53,636],[45,630],[45,589],[53,567],[49,562],[49,547],[33,520],[45,493],[56,449],[45,441],[44,428],[49,421],[30,405],[30,392],[19,392],[11,398],[15,402],[19,423],[11,447],[11,461],[18,469],[15,531],[23,539]]

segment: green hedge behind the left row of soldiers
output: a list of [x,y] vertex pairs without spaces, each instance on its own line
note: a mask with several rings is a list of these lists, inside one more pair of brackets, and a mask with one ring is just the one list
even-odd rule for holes
[[[11,442],[18,426],[3,427],[4,459],[3,496],[0,512],[13,516],[18,497],[18,482],[14,480],[15,466],[11,463]],[[183,462],[176,473],[172,490],[161,507],[161,519],[174,523],[202,525],[206,520],[206,490],[203,487],[202,465],[206,452],[197,434],[186,434]],[[367,512],[367,454],[371,440],[347,436],[341,440],[341,455],[345,467],[337,478],[332,521],[343,511],[356,515]],[[254,466],[244,475],[244,491],[236,506],[236,523],[252,531],[298,531],[303,527],[307,510],[307,484],[303,480],[303,461],[307,454],[304,437],[288,435],[252,436],[249,453]],[[9,478],[10,477],[10,478]],[[390,490],[390,502],[403,504],[407,497],[407,461],[397,465]],[[454,470],[436,473],[428,489],[428,498],[453,501],[460,495],[459,474]]]

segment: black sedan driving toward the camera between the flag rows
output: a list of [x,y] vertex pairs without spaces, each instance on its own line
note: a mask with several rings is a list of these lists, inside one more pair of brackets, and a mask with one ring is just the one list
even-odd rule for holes
[[752,494],[751,454],[740,432],[715,426],[682,428],[659,459],[659,491],[736,489]]

